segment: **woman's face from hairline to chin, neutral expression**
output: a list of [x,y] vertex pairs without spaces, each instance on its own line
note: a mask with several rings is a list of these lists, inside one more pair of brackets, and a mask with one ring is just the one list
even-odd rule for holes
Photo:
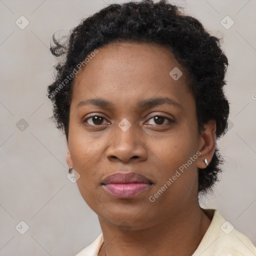
[[[185,70],[169,49],[109,44],[76,74],[66,161],[83,199],[108,223],[145,228],[198,203],[204,144]],[[109,181],[106,189],[109,175],[130,172],[147,182]]]

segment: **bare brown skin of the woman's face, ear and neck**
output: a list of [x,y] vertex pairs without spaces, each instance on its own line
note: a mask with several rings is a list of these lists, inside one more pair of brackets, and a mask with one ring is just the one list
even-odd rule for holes
[[[74,78],[66,162],[79,173],[79,191],[98,215],[104,237],[99,255],[191,255],[210,224],[198,204],[197,168],[205,168],[203,159],[210,162],[214,153],[215,122],[205,124],[198,134],[185,70],[168,48],[121,42],[98,50]],[[178,80],[169,75],[174,67],[183,72]],[[155,97],[171,98],[180,107],[136,106]],[[102,98],[113,106],[76,107],[90,98]],[[104,118],[83,122],[91,115]],[[155,121],[153,116],[174,122]],[[123,118],[131,124],[126,131],[118,127]],[[150,202],[149,196],[197,151],[200,156]],[[153,184],[134,198],[115,198],[101,182],[119,171],[140,173]]]

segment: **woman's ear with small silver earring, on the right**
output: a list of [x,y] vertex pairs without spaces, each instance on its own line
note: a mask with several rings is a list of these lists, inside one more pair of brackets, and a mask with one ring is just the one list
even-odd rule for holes
[[206,168],[204,159],[210,163],[211,158],[215,151],[215,132],[216,132],[216,122],[214,120],[209,120],[204,126],[204,131],[199,138],[199,151],[201,152],[197,161],[197,168]]

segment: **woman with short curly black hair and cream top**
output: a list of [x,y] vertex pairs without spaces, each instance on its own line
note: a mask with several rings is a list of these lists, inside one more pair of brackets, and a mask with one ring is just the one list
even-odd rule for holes
[[228,65],[219,41],[161,0],[110,4],[51,52],[66,162],[102,233],[77,256],[256,255],[198,195],[223,162]]

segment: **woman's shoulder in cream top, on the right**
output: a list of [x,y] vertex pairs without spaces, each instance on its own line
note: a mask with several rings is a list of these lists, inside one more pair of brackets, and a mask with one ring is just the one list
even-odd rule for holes
[[217,210],[192,256],[255,256],[256,248],[247,236],[226,221]]

